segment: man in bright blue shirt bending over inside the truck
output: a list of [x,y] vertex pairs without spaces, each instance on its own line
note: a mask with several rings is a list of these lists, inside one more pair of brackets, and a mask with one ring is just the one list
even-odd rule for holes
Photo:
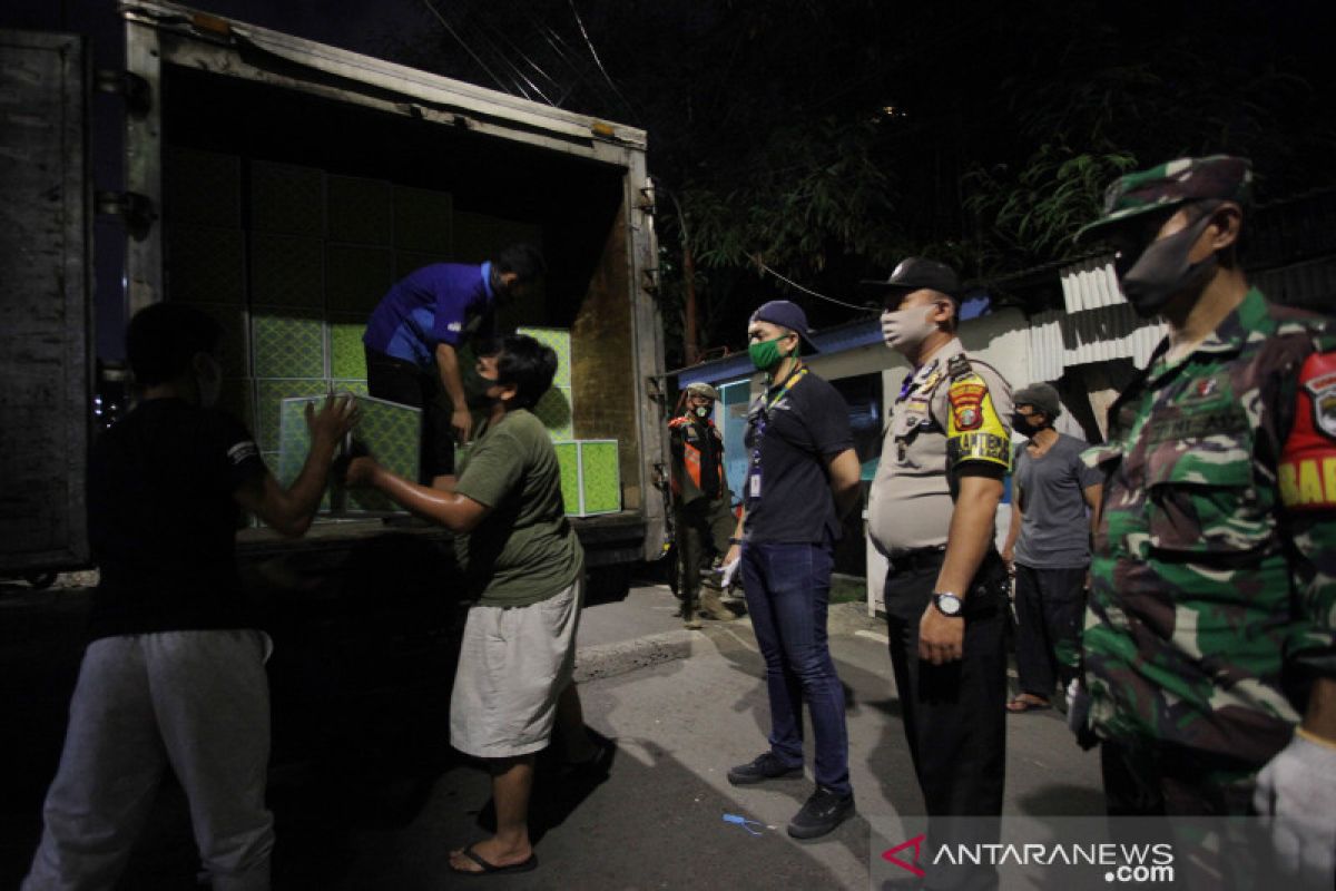
[[366,386],[378,399],[422,409],[422,482],[454,473],[454,439],[473,431],[458,350],[496,335],[496,307],[533,287],[545,273],[530,244],[513,244],[496,259],[433,263],[389,290],[362,335]]

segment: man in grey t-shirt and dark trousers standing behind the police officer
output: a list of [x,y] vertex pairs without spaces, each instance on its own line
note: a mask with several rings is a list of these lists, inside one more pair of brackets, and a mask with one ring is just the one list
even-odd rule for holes
[[1054,681],[1066,685],[1078,668],[1101,477],[1081,462],[1086,443],[1053,429],[1061,413],[1058,391],[1047,383],[1015,393],[1013,429],[1029,442],[1017,449],[1011,529],[1002,549],[1015,576],[1021,692],[1007,703],[1013,713],[1047,708]]

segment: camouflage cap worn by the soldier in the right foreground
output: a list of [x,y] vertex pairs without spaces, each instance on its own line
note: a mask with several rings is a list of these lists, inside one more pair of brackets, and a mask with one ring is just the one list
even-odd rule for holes
[[1113,180],[1104,194],[1104,216],[1077,232],[1077,243],[1110,226],[1188,202],[1217,199],[1246,206],[1252,199],[1252,162],[1232,155],[1180,158]]

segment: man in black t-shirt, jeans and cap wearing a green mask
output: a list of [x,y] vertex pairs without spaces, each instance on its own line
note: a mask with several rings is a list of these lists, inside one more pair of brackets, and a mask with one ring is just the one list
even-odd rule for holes
[[[816,791],[788,824],[794,838],[831,832],[854,812],[844,688],[826,643],[834,544],[858,500],[860,468],[839,391],[798,358],[807,317],[771,301],[747,327],[767,387],[747,417],[747,480],[737,544],[747,610],[766,659],[770,749],[728,771],[735,785],[803,772],[803,699],[816,743]],[[739,546],[740,545],[740,546]]]

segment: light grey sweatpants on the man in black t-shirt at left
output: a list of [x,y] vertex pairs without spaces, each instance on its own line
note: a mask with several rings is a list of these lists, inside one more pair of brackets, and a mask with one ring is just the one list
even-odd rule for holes
[[258,631],[94,641],[23,891],[114,887],[168,765],[190,801],[215,891],[269,888],[267,649]]

